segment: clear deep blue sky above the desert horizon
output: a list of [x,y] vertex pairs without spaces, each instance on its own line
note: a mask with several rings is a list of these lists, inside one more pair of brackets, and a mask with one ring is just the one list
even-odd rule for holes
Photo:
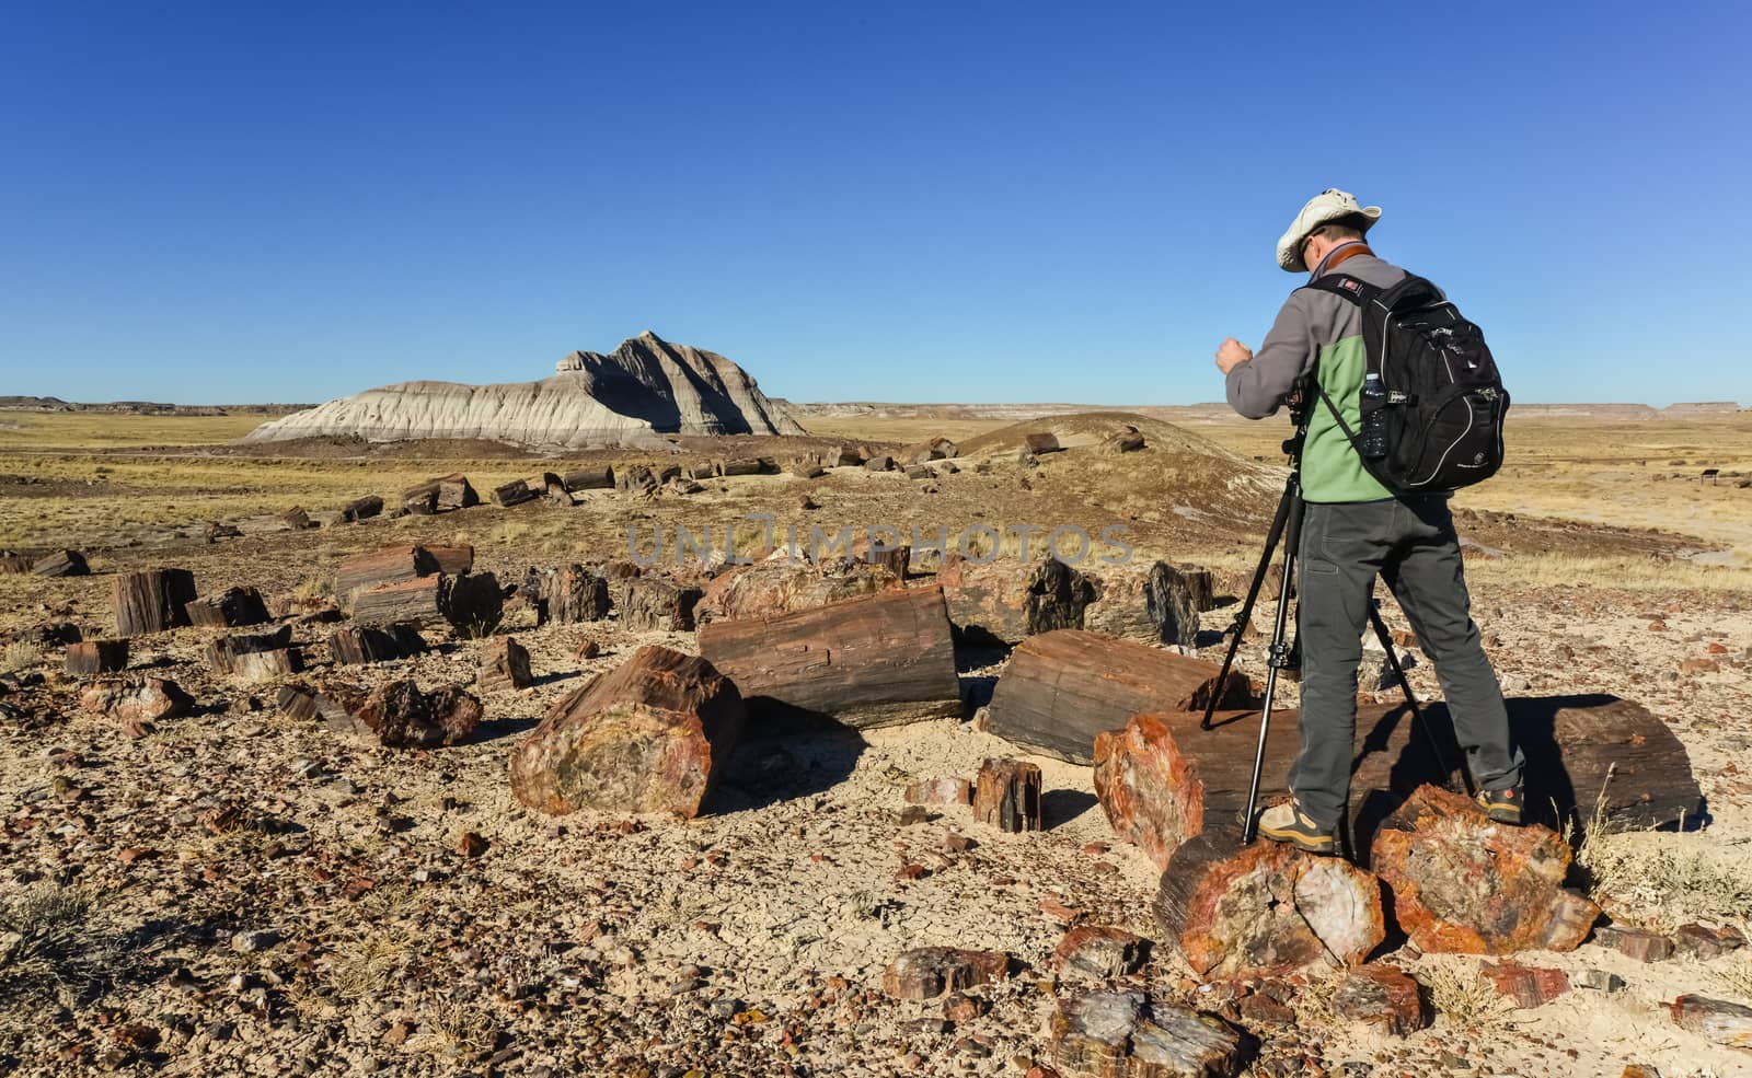
[[1752,402],[1743,4],[7,4],[0,394],[1221,399],[1328,186],[1521,401]]

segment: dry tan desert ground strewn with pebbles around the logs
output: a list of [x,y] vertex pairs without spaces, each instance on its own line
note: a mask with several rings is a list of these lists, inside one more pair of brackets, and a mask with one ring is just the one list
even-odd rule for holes
[[[1284,476],[1286,425],[1219,408],[795,415],[808,436],[541,453],[492,441],[237,444],[263,420],[251,413],[0,411],[0,548],[81,551],[91,570],[0,574],[0,1069],[1046,1074],[1058,1001],[1102,987],[1053,952],[1072,926],[1111,926],[1153,947],[1106,987],[1223,1015],[1249,1074],[1752,1073],[1752,1050],[1671,1017],[1684,994],[1752,1004],[1752,948],[1640,961],[1589,940],[1524,952],[1515,961],[1561,971],[1570,987],[1515,1006],[1480,978],[1486,959],[1389,938],[1374,959],[1417,982],[1426,1029],[1396,1036],[1337,1015],[1339,970],[1293,980],[1275,1020],[1237,1008],[1237,992],[1258,985],[1200,984],[1162,938],[1151,914],[1162,873],[1109,824],[1091,768],[983,728],[1002,648],[958,649],[957,716],[862,732],[750,724],[692,819],[547,816],[508,782],[512,754],[550,705],[646,644],[697,653],[690,630],[617,616],[538,625],[512,595],[498,625],[431,632],[424,654],[335,668],[326,618],[345,614],[335,579],[352,555],[471,546],[477,572],[515,584],[531,569],[638,556],[657,528],[729,536],[731,553],[764,558],[811,525],[951,537],[990,525],[999,550],[979,553],[1018,574],[1041,558],[1046,530],[1120,528],[1106,534],[1130,558],[1219,581],[1230,602],[1202,614],[1195,644],[1219,658]],[[1106,452],[1125,425],[1144,446]],[[1062,450],[1023,453],[1041,432]],[[531,472],[788,462],[848,443],[899,455],[929,438],[953,441],[955,455],[923,476],[787,469],[701,478],[690,492],[583,490],[569,506],[333,518],[366,495],[394,509],[403,490],[452,472],[485,495]],[[1747,411],[1529,408],[1510,415],[1503,472],[1454,500],[1473,612],[1505,690],[1635,700],[1689,754],[1698,819],[1568,836],[1566,882],[1615,926],[1752,928],[1748,478]],[[284,527],[294,508],[321,527]],[[1018,525],[1042,528],[1028,550]],[[939,564],[925,553],[915,550],[911,586],[930,586]],[[461,686],[480,696],[478,730],[443,747],[385,747],[282,714],[275,681],[210,668],[207,646],[228,630],[203,626],[135,635],[126,670],[107,676],[173,679],[193,698],[182,714],[140,724],[86,707],[89,679],[65,670],[58,626],[116,635],[110,581],[163,567],[191,572],[201,595],[256,588],[301,656],[284,681]],[[668,555],[659,567],[701,579],[725,569]],[[1405,626],[1391,600],[1386,616]],[[484,649],[505,635],[527,648],[533,684],[477,686]],[[576,658],[587,642],[594,656]],[[1263,660],[1249,635],[1244,672],[1263,676]],[[1428,662],[1409,676],[1423,698],[1440,696]],[[915,782],[972,779],[988,758],[1041,768],[1042,830],[1002,833],[967,805],[908,803]],[[948,998],[895,998],[885,970],[916,947],[1004,952],[1011,968]]]

